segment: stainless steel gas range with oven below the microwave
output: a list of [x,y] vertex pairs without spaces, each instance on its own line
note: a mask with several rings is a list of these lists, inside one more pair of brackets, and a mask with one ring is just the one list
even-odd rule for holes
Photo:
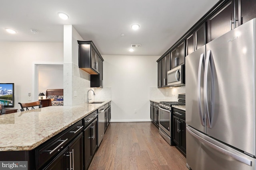
[[160,102],[159,104],[159,133],[169,145],[174,145],[172,141],[172,105],[185,105],[185,96],[185,93],[180,93],[178,102]]

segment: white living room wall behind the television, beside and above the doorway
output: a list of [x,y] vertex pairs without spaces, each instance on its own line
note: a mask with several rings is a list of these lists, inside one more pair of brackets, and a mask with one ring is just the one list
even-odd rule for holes
[[14,83],[14,108],[26,103],[32,91],[34,63],[63,63],[63,43],[0,42],[0,82]]

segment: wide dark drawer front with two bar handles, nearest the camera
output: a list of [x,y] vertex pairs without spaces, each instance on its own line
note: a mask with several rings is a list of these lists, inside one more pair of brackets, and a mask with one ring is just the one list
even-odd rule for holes
[[62,131],[49,141],[46,141],[42,144],[41,147],[36,149],[36,167],[40,168],[44,165],[48,160],[51,160],[56,154],[59,154],[64,147],[77,135],[82,132],[82,120],[78,121],[68,129]]

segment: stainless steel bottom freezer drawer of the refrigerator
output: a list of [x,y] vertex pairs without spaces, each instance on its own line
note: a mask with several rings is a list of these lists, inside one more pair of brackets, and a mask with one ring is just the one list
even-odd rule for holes
[[192,170],[255,170],[255,158],[186,126],[186,161]]

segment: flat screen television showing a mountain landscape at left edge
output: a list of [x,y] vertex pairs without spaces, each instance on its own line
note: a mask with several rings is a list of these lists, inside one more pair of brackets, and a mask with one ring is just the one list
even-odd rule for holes
[[14,83],[0,83],[0,104],[14,107]]

